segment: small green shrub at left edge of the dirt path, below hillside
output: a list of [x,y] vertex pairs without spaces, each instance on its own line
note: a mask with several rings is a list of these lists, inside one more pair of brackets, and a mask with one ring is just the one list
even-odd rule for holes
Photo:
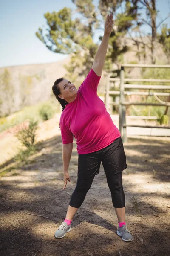
[[32,146],[35,144],[36,130],[38,122],[30,119],[28,127],[22,128],[15,134],[21,144],[32,151]]

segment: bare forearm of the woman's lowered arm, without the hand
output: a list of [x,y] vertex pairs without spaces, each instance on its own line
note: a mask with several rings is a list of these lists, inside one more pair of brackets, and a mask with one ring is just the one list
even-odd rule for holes
[[73,143],[62,145],[63,172],[68,172],[72,150]]

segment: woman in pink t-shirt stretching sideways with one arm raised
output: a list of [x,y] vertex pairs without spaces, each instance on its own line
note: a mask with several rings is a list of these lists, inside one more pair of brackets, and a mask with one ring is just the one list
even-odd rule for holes
[[119,130],[113,124],[102,100],[97,96],[109,36],[113,27],[113,15],[108,15],[105,31],[94,64],[79,90],[70,81],[60,78],[54,82],[53,93],[62,105],[60,128],[62,135],[62,158],[65,189],[70,182],[68,167],[73,149],[73,136],[77,139],[78,178],[71,195],[65,220],[55,232],[55,238],[62,238],[71,230],[71,221],[82,205],[88,190],[99,173],[102,162],[108,186],[111,190],[113,206],[118,218],[117,234],[123,241],[133,237],[125,223],[125,194],[122,186],[122,171],[127,168],[126,156]]

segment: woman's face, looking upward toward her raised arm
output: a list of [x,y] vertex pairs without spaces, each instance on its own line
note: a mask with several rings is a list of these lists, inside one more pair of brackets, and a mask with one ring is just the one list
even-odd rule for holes
[[58,84],[61,94],[60,99],[65,99],[67,102],[72,102],[77,96],[77,88],[70,81],[64,79]]

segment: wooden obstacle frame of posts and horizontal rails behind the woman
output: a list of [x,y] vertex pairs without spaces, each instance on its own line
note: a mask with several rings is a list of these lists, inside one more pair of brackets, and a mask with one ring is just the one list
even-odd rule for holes
[[[126,105],[143,105],[143,106],[167,106],[170,108],[170,102],[166,103],[142,103],[142,102],[125,102],[125,95],[147,95],[147,96],[170,96],[166,92],[127,92],[125,89],[146,89],[146,90],[168,90],[170,85],[146,85],[146,84],[125,84],[125,82],[169,82],[169,79],[127,79],[125,78],[125,67],[145,67],[145,68],[170,68],[170,65],[145,65],[145,64],[123,64],[120,71],[119,78],[111,78],[108,76],[105,94],[105,106],[108,110],[109,105],[119,106],[119,131],[123,142],[127,142],[127,127],[141,127],[141,128],[164,128],[170,129],[170,111],[169,111],[169,126],[150,126],[150,125],[126,125]],[[110,82],[120,81],[120,91],[110,91]],[[109,103],[109,95],[119,95],[119,103]]]

